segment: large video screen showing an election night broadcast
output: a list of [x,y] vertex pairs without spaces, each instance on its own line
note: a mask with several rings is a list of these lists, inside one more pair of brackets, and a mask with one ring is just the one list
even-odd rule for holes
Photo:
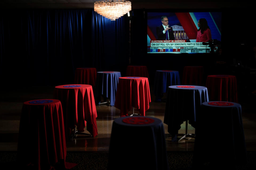
[[147,53],[214,53],[220,44],[221,12],[147,12]]

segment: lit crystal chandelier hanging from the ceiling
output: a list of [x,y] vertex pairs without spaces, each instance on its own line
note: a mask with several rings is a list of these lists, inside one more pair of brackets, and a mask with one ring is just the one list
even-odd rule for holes
[[94,11],[114,21],[131,10],[130,1],[99,1],[94,2]]

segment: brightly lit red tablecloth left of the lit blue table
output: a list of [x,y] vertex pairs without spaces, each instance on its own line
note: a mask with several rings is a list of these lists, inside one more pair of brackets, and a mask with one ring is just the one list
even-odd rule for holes
[[96,107],[91,85],[67,84],[56,86],[54,89],[56,99],[59,99],[63,107],[66,137],[77,126],[79,132],[83,132],[85,126],[93,137],[98,135],[96,123]]

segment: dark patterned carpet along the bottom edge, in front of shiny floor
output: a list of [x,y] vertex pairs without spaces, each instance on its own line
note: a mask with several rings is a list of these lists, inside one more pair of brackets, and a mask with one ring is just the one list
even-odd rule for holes
[[[1,169],[19,169],[16,165],[17,152],[0,152]],[[237,170],[251,170],[256,168],[256,152],[247,152],[248,163],[244,166],[236,166]],[[193,152],[175,151],[167,152],[170,170],[190,170],[192,167]],[[71,170],[105,170],[107,169],[108,152],[67,152],[66,162],[77,163]],[[131,159],[138,161],[134,157]],[[127,162],[131,161],[127,160]],[[220,167],[221,168],[221,167]],[[210,165],[205,164],[203,169],[211,169]]]

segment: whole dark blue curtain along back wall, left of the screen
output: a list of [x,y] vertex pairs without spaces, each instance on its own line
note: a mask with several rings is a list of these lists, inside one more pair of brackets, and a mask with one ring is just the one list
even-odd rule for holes
[[120,65],[127,65],[126,16],[110,21],[93,9],[0,13],[1,77],[5,82],[72,84],[78,67],[120,71]]

